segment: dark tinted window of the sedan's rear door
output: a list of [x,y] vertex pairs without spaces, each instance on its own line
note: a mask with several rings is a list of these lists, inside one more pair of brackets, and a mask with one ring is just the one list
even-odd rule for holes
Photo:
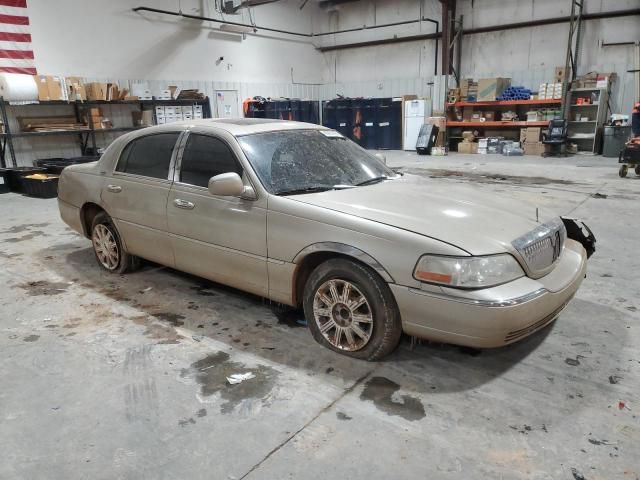
[[122,152],[116,171],[166,180],[179,136],[179,133],[160,133],[133,140]]

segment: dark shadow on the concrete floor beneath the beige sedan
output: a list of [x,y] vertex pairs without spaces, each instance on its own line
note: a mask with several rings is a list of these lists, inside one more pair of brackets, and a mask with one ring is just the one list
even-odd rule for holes
[[[48,263],[58,275],[136,309],[138,313],[127,318],[146,325],[150,341],[179,343],[180,335],[175,333],[179,327],[194,340],[209,337],[270,361],[305,369],[311,376],[331,374],[352,381],[374,368],[314,342],[300,310],[148,262],[135,273],[110,274],[98,267],[93,250],[83,248],[80,242],[53,245],[39,253],[60,259]],[[79,305],[92,308],[91,302],[82,298]],[[463,391],[504,374],[535,351],[550,331],[546,328],[517,344],[491,350],[426,341],[412,345],[405,337],[398,350],[381,363],[391,368],[410,365],[415,371],[428,373],[425,379],[446,370],[447,381],[439,385],[439,391]],[[431,385],[425,380],[415,388],[428,391]]]

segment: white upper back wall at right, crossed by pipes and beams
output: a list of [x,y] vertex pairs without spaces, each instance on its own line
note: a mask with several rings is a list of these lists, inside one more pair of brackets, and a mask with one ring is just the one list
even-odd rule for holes
[[[570,0],[458,0],[458,15],[464,16],[466,28],[523,22],[531,19],[566,16]],[[586,12],[624,10],[640,7],[640,0],[587,0]],[[344,4],[330,13],[332,29],[392,23],[423,16],[439,20],[437,0],[398,0],[375,2],[362,0]],[[612,95],[613,108],[629,111],[633,101],[633,76],[626,70],[633,64],[632,47],[600,47],[600,41],[632,41],[640,38],[640,17],[613,18],[584,23],[583,47],[579,73],[617,72],[620,80]],[[351,43],[435,31],[432,24],[389,27],[364,32],[319,37],[319,45]],[[462,75],[507,76],[515,83],[537,89],[551,81],[556,66],[564,65],[568,25],[549,25],[503,32],[469,35],[463,41]],[[329,83],[323,92],[353,91],[358,85],[361,95],[379,95],[387,88],[417,83],[419,88],[404,93],[422,94],[433,78],[433,40],[385,46],[353,48],[325,53],[329,65]],[[438,67],[440,68],[440,67]],[[382,88],[380,88],[382,85]],[[388,87],[387,87],[388,86]]]

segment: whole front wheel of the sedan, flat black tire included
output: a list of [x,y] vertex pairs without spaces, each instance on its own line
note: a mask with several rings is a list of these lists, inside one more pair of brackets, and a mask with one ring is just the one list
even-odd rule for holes
[[314,339],[333,351],[378,360],[398,346],[402,324],[387,284],[362,264],[336,258],[319,265],[304,290]]

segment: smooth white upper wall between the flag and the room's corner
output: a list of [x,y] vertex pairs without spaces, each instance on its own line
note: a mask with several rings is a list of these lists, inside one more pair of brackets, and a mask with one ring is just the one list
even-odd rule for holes
[[[316,83],[324,57],[306,39],[220,32],[211,22],[131,11],[136,6],[221,18],[208,0],[29,0],[36,66],[83,77]],[[318,8],[297,0],[252,9],[257,24],[309,32]],[[249,23],[248,12],[226,15]],[[216,63],[219,57],[224,61]]]

